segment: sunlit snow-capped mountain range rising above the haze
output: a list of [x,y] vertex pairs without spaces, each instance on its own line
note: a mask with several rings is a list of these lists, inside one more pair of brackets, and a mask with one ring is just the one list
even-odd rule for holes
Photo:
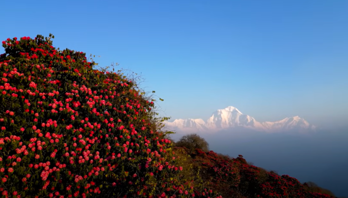
[[206,122],[202,119],[177,119],[173,122],[166,121],[164,124],[171,130],[184,132],[218,131],[235,127],[266,132],[315,130],[315,126],[298,116],[275,122],[258,122],[253,117],[243,114],[233,106],[213,112],[212,116]]

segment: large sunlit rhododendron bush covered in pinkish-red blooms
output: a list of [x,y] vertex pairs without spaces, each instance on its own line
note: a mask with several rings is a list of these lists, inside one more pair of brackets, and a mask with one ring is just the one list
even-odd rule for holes
[[[180,177],[154,104],[119,73],[38,35],[2,42],[2,197],[208,197]],[[204,189],[204,190],[203,190]]]

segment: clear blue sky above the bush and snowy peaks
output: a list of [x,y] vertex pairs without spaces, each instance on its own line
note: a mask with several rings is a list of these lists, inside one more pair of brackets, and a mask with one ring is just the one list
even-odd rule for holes
[[[348,123],[347,0],[3,1],[0,39],[54,45],[141,73],[161,115],[235,106],[258,121]],[[0,53],[3,53],[1,49]]]

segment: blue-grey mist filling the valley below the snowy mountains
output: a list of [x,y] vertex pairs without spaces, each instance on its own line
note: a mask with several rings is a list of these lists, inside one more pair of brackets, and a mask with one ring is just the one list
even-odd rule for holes
[[[264,132],[234,128],[212,134],[199,133],[209,149],[248,162],[301,183],[312,181],[338,197],[348,197],[348,127],[320,129],[312,133]],[[174,141],[185,135],[172,134]]]

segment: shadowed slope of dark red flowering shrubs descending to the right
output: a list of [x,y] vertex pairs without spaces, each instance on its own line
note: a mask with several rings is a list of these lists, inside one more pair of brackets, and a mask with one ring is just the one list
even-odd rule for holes
[[[189,149],[186,149],[189,153]],[[196,149],[189,153],[192,163],[200,167],[201,177],[207,186],[220,192],[224,198],[333,198],[330,195],[308,190],[288,175],[281,177],[259,167],[249,165],[242,155],[226,159],[213,151]]]

